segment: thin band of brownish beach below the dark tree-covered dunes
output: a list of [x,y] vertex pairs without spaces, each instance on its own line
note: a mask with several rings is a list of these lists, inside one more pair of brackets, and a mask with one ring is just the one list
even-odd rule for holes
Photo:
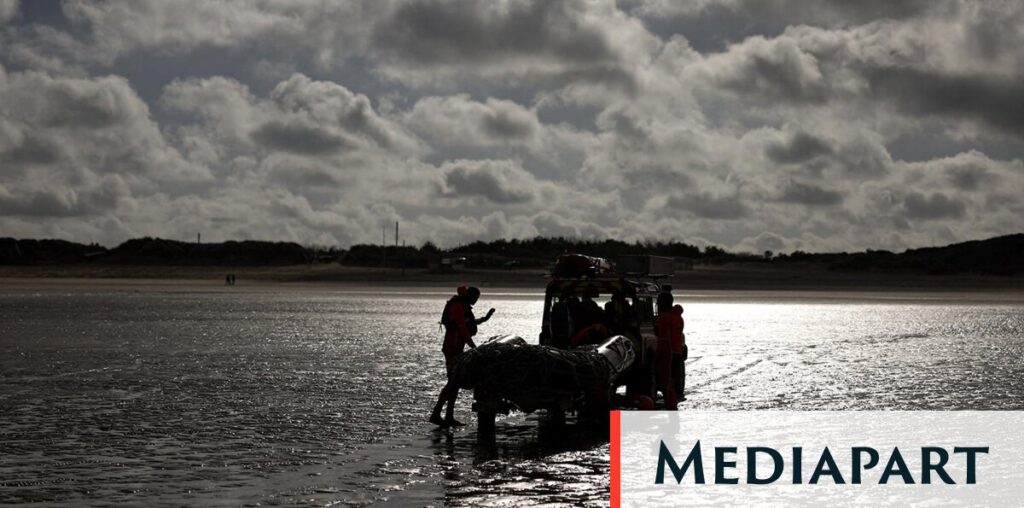
[[[224,284],[224,276],[236,274],[239,288],[271,283],[299,287],[303,284],[338,284],[349,287],[437,287],[461,283],[481,287],[515,288],[543,292],[547,269],[464,269],[435,273],[423,268],[375,268],[334,263],[290,266],[174,266],[174,265],[6,265],[0,280],[8,286],[88,285],[196,286]],[[927,274],[885,271],[838,271],[822,263],[725,263],[699,264],[677,271],[662,281],[683,291],[851,291],[1022,293],[1022,276]]]

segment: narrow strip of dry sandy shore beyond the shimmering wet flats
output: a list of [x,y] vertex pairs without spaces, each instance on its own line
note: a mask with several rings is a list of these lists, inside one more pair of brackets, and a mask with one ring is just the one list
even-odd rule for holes
[[[224,285],[234,273],[236,286]],[[844,294],[858,299],[955,300],[974,295],[986,301],[1024,301],[1024,278],[837,272],[816,265],[698,266],[663,280],[687,297],[817,299]],[[134,291],[325,291],[346,293],[443,293],[467,283],[508,296],[544,293],[541,269],[429,273],[423,269],[365,268],[334,264],[275,267],[53,265],[0,266],[2,290]],[[916,296],[915,296],[916,295]],[[931,295],[931,296],[929,296]]]

